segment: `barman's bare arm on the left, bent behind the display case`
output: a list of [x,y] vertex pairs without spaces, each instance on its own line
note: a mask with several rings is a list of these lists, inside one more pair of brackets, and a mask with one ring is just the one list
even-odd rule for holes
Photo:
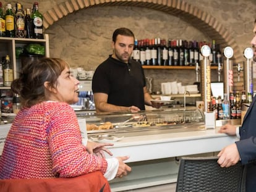
[[135,106],[124,107],[124,106],[115,106],[113,104],[108,104],[108,94],[106,93],[94,93],[93,97],[94,97],[96,112],[140,111],[140,109]]

